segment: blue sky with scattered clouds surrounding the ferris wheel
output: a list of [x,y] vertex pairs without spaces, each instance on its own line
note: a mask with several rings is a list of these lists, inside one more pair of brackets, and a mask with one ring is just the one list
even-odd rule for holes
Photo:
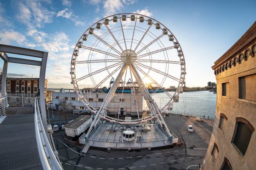
[[[48,51],[48,88],[73,88],[70,62],[84,31],[108,15],[144,14],[179,41],[186,86],[204,87],[215,82],[214,62],[255,22],[255,8],[255,0],[1,0],[0,43]],[[10,63],[8,76],[35,78],[39,69]]]

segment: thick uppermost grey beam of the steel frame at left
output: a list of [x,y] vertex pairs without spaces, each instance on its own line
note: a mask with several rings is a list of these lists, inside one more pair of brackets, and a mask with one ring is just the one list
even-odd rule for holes
[[22,48],[22,47],[15,47],[12,45],[0,44],[0,51],[4,53],[19,54],[24,56],[38,57],[38,58],[44,57],[44,51],[33,50],[33,49]]

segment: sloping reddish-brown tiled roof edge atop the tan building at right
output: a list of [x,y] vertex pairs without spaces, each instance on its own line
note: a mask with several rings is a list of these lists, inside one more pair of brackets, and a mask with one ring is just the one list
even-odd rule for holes
[[219,66],[223,65],[230,59],[232,59],[237,54],[244,51],[253,41],[256,40],[256,21],[253,25],[242,35],[242,37],[229,49],[225,52],[219,59],[214,62],[212,69],[216,69]]

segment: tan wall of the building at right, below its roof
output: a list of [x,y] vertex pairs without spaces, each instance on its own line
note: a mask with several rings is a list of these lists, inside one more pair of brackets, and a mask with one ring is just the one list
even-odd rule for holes
[[[220,67],[214,68],[217,80],[215,122],[201,170],[221,170],[224,160],[229,161],[228,164],[233,170],[253,170],[256,167],[256,130],[254,130],[256,128],[256,53],[251,50],[250,53],[247,52],[254,45],[256,45],[256,39],[244,47],[241,53],[237,53],[230,60],[223,60]],[[250,55],[245,57],[246,53]],[[231,65],[226,67],[226,63],[231,63]],[[239,83],[239,79],[244,76],[249,76],[246,85]],[[222,95],[222,91],[224,91],[222,83],[229,83],[227,96]],[[246,91],[246,99],[239,97],[241,91]],[[223,130],[219,127],[221,116],[227,117]],[[246,119],[244,122],[248,123],[248,127],[253,131],[244,155],[233,143],[237,130],[236,122],[240,119],[239,117]],[[218,147],[215,156],[212,154],[214,145]]]

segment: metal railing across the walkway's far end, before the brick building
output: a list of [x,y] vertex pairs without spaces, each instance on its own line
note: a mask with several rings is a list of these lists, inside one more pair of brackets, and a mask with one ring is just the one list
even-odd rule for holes
[[34,106],[35,94],[7,93],[7,102],[9,107],[29,107]]

